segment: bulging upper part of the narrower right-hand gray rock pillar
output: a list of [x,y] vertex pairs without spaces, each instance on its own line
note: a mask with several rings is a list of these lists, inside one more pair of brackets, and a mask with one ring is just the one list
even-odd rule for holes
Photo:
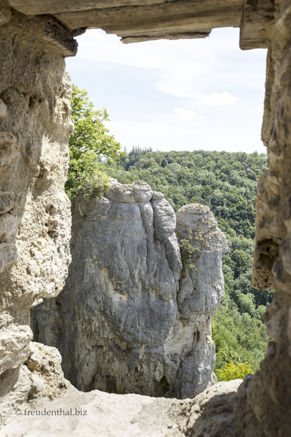
[[206,323],[224,295],[221,259],[227,252],[227,241],[207,206],[185,205],[177,211],[178,239],[187,238],[189,229],[193,232],[193,245],[202,253],[194,262],[197,271],[185,269],[181,277],[178,306],[185,319]]

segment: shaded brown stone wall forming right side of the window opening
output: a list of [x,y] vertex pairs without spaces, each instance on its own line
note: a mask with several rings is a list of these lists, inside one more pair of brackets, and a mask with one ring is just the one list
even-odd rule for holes
[[259,180],[253,286],[274,287],[264,315],[273,338],[260,372],[239,388],[235,423],[242,435],[291,430],[291,3],[276,3],[267,59],[262,139],[269,170]]

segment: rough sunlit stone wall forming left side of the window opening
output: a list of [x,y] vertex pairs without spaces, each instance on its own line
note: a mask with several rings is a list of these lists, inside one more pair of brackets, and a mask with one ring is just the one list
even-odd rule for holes
[[61,49],[43,39],[46,21],[18,12],[6,21],[0,27],[1,393],[28,357],[29,307],[58,294],[67,275],[70,205],[63,187],[73,130],[69,74]]

